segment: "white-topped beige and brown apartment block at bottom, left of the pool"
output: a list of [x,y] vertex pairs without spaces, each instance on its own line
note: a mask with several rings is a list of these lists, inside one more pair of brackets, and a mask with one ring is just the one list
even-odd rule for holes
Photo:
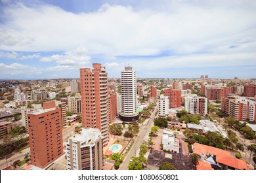
[[66,142],[68,170],[101,170],[103,146],[99,129],[82,128]]

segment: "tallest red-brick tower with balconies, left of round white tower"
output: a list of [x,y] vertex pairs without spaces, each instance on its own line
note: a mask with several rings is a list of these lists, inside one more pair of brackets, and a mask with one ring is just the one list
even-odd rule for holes
[[108,144],[108,74],[100,63],[80,69],[83,127],[100,129],[103,145]]

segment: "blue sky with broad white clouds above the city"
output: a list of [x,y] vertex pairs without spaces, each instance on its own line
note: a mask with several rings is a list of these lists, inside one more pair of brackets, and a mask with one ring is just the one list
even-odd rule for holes
[[256,1],[0,0],[0,79],[256,78]]

